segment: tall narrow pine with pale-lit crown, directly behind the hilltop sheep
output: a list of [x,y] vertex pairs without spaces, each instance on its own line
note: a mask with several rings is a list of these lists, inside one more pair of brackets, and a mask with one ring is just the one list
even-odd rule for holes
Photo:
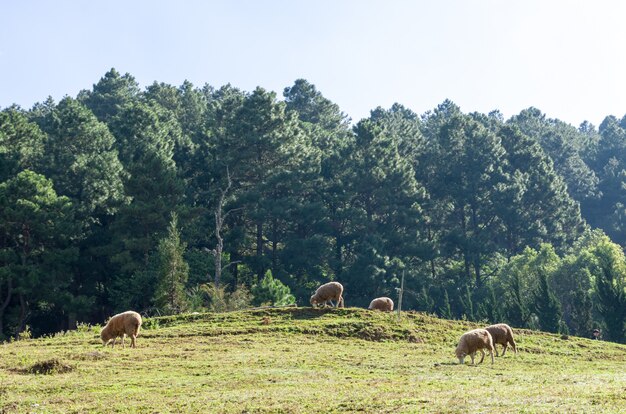
[[[306,219],[287,234],[281,263],[289,274],[302,275],[303,282],[327,281],[329,274],[341,278],[349,220],[349,197],[342,191],[348,161],[342,151],[353,140],[350,120],[306,80],[296,80],[283,96],[286,110],[297,116],[305,140],[319,152],[320,160],[319,171],[299,184],[302,191],[294,207]],[[306,294],[308,289],[301,291]]]

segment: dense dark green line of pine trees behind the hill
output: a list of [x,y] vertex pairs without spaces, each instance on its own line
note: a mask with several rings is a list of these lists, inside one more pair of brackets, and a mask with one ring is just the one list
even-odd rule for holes
[[279,99],[112,69],[0,111],[0,335],[329,280],[364,306],[404,274],[405,309],[624,342],[625,183],[626,117],[445,101],[352,124],[305,80]]

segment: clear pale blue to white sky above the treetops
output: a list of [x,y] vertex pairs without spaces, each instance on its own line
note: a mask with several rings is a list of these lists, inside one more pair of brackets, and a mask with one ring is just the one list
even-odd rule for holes
[[0,107],[142,87],[316,85],[353,120],[445,99],[578,126],[626,114],[621,0],[0,0]]

